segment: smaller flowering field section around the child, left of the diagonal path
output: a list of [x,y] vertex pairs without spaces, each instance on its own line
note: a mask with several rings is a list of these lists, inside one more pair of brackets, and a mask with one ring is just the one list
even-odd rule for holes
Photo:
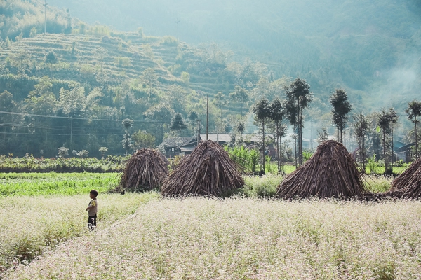
[[[84,195],[0,196],[0,279],[2,270],[33,260],[46,248],[86,235]],[[98,230],[135,213],[157,193],[98,196]]]

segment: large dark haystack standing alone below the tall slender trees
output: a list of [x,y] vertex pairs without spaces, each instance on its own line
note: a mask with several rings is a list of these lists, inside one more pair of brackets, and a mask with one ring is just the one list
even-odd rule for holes
[[276,195],[298,197],[363,197],[363,181],[345,146],[324,141],[304,165],[286,176]]

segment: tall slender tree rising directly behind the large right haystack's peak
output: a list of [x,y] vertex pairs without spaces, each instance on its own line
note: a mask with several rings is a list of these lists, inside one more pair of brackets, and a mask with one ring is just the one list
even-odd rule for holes
[[351,103],[348,101],[347,92],[342,89],[336,89],[335,93],[330,96],[330,104],[332,105],[333,123],[335,123],[340,135],[340,143],[345,145],[345,129],[347,127],[347,116],[352,110]]

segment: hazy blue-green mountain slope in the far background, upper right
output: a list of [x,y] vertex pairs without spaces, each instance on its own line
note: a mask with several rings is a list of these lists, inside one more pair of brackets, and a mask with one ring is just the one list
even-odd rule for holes
[[[143,27],[146,34],[179,35],[187,43],[227,45],[239,57],[248,55],[266,63],[277,77],[306,78],[320,94],[341,86],[370,102],[366,93],[383,95],[390,87],[411,96],[420,90],[419,78],[411,80],[410,89],[400,86],[408,82],[401,80],[402,73],[420,70],[421,3],[417,0],[51,3],[70,8],[91,24],[98,21],[127,31]],[[391,85],[383,88],[387,80]]]

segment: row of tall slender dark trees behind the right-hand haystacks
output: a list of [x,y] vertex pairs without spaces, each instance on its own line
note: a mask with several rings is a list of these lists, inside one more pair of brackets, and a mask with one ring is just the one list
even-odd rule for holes
[[[276,158],[279,165],[279,141],[286,134],[285,122],[288,120],[289,124],[293,126],[293,138],[295,148],[295,165],[302,165],[302,131],[304,128],[303,110],[306,109],[310,102],[313,100],[312,92],[309,92],[309,85],[305,80],[296,78],[289,86],[284,87],[285,99],[281,100],[276,98],[272,103],[267,99],[260,99],[253,106],[253,113],[255,114],[255,123],[260,126],[262,133],[262,148],[265,151],[265,127],[270,125],[276,127],[275,142],[276,142]],[[337,89],[330,96],[330,105],[332,106],[332,121],[337,128],[337,139],[345,145],[345,135],[347,123],[349,121],[349,113],[352,111],[352,104],[347,98],[347,92],[343,89]],[[420,155],[418,149],[418,131],[417,124],[421,116],[421,102],[413,100],[408,103],[408,109],[405,110],[408,119],[415,125],[415,145],[413,147],[414,158]],[[383,148],[383,160],[385,162],[385,174],[391,174],[393,171],[394,162],[394,127],[398,123],[399,115],[395,109],[382,109],[379,113],[375,113],[375,132],[380,135],[380,142]],[[358,142],[358,160],[361,164],[361,170],[365,171],[367,151],[366,151],[366,138],[370,134],[370,122],[368,116],[363,113],[358,113],[353,117],[354,123],[354,137]],[[328,135],[326,129],[321,137],[321,141],[327,139]],[[378,136],[377,136],[378,137]],[[376,138],[373,135],[372,138]],[[373,140],[376,141],[376,140]],[[264,157],[264,154],[263,154]],[[263,170],[265,170],[265,160],[263,160]],[[280,169],[279,169],[280,170]]]

